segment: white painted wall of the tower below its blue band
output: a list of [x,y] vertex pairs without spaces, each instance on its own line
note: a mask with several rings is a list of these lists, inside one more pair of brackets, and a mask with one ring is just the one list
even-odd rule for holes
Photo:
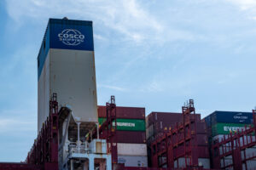
[[49,116],[49,99],[57,94],[59,109],[71,107],[81,122],[97,122],[96,71],[93,51],[49,49],[38,80],[38,132]]

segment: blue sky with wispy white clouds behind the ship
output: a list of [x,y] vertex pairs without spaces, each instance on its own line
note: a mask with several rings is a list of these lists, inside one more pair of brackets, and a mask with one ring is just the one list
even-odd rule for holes
[[202,116],[256,105],[256,1],[0,1],[0,161],[37,136],[37,55],[49,18],[93,20],[98,104]]

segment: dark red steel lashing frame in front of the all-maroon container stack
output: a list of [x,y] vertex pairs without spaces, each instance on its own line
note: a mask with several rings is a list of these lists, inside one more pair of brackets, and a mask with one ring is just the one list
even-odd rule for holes
[[182,107],[182,111],[183,122],[177,123],[175,128],[161,134],[151,143],[152,167],[179,168],[182,159],[185,168],[200,168],[194,100],[189,99],[189,103]]

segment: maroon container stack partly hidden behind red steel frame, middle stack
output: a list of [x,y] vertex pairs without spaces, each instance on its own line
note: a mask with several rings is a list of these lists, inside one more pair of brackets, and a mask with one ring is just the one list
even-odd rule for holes
[[[191,115],[192,118],[193,115]],[[165,133],[172,128],[177,126],[177,123],[183,122],[182,113],[173,112],[151,112],[146,117],[146,138],[148,146],[151,142],[157,138],[161,133]],[[207,141],[207,127],[205,122],[201,122],[201,114],[195,114],[196,122],[196,139],[199,163],[204,166],[204,168],[210,168],[210,155],[208,151],[208,141]],[[148,147],[148,163],[150,160],[151,150]],[[174,167],[185,166],[185,159],[179,158],[178,163],[174,163]]]

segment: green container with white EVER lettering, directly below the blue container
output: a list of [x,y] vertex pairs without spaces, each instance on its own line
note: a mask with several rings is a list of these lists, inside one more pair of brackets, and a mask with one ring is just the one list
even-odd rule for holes
[[235,133],[237,131],[245,130],[245,126],[253,126],[253,124],[240,124],[240,123],[223,123],[219,122],[212,126],[212,136],[218,134],[230,134],[230,132]]

